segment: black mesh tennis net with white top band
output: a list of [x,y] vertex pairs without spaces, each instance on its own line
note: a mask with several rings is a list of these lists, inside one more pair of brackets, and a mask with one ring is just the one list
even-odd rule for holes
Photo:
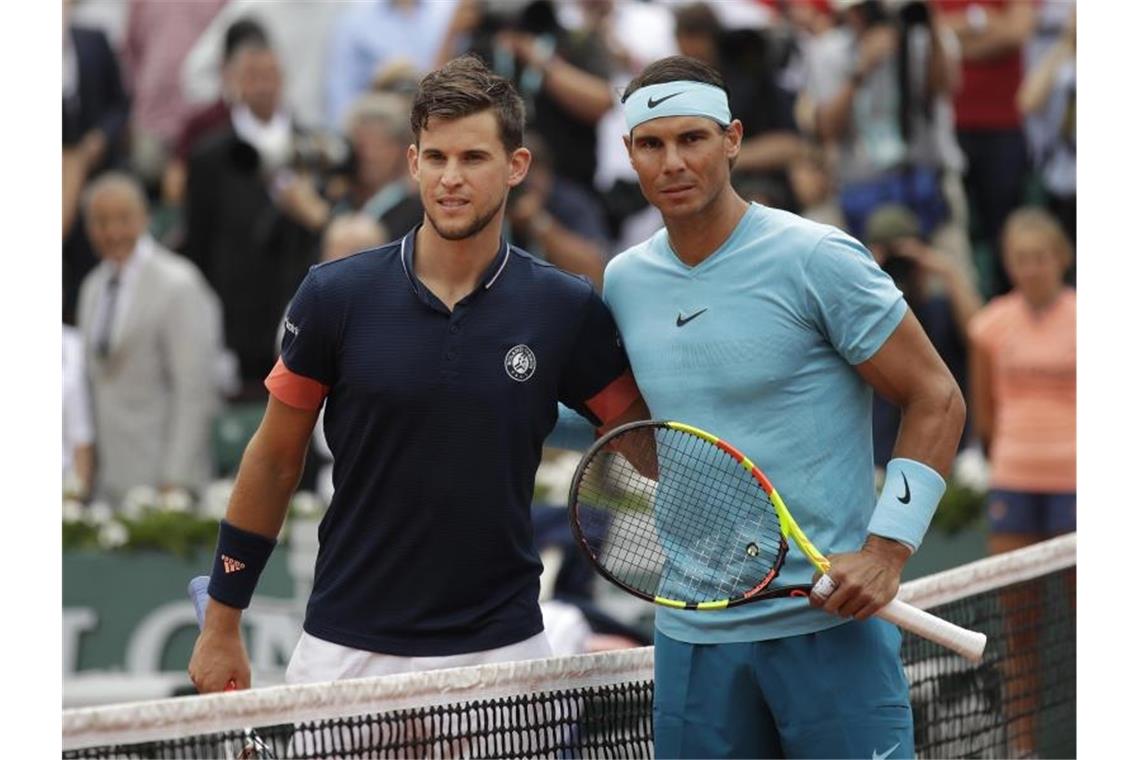
[[[919,757],[1075,757],[1075,578],[1070,534],[904,585],[990,637],[904,637]],[[65,710],[64,757],[651,757],[652,678],[644,647]]]

